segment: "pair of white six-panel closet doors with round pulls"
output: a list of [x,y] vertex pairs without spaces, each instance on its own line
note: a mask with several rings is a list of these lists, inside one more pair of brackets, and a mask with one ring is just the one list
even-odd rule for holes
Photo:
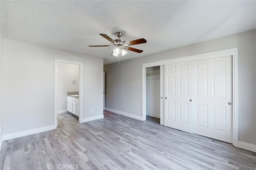
[[231,56],[164,66],[164,125],[232,143]]

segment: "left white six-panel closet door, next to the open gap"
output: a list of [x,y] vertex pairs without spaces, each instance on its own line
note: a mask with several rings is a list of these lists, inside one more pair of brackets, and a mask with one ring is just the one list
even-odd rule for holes
[[193,132],[193,62],[164,65],[164,125]]

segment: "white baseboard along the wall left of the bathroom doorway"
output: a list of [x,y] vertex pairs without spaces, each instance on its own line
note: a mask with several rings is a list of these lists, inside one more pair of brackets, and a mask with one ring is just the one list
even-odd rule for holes
[[14,139],[17,137],[23,137],[23,136],[27,136],[27,135],[32,135],[35,133],[40,133],[40,132],[44,132],[44,131],[50,131],[56,129],[56,127],[54,127],[54,125],[50,125],[50,126],[45,126],[45,127],[39,127],[36,129],[30,129],[30,130],[26,130],[26,131],[20,131],[20,132],[15,132],[15,133],[10,133],[10,134],[6,134],[3,135],[3,141],[9,140],[9,139]]

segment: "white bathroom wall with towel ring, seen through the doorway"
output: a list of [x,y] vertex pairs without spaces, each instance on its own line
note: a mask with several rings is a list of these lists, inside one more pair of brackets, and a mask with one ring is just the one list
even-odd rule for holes
[[[67,92],[79,91],[79,65],[58,63],[57,110],[67,109]],[[76,84],[72,84],[73,81]]]

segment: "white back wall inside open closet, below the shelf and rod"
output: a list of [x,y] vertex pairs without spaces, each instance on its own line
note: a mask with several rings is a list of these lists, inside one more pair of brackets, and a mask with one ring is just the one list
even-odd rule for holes
[[160,118],[160,77],[146,78],[146,115]]

